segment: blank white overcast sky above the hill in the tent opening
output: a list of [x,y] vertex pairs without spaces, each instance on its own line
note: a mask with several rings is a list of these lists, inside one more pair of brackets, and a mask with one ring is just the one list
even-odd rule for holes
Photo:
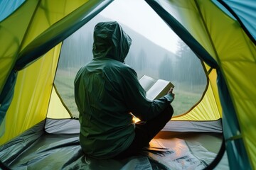
[[101,14],[129,26],[171,52],[176,51],[178,36],[144,0],[116,0]]

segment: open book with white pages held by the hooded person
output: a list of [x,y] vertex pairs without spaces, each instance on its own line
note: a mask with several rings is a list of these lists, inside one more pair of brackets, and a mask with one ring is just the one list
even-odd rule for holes
[[172,84],[170,81],[163,79],[156,80],[146,75],[139,79],[139,83],[146,91],[146,98],[149,98],[150,100],[161,98],[167,94],[171,87],[174,87],[174,84]]

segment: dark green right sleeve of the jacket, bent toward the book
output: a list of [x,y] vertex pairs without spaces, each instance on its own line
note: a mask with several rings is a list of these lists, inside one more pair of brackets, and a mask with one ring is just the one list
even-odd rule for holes
[[122,94],[127,109],[143,121],[159,115],[174,100],[171,94],[154,101],[147,99],[146,91],[139,84],[137,73],[129,67],[122,70]]

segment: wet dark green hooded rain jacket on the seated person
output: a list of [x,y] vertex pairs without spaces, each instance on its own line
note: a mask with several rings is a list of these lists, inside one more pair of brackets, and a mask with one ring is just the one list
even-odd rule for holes
[[131,38],[117,22],[98,23],[94,58],[75,77],[75,102],[80,113],[80,145],[90,157],[109,159],[134,139],[132,113],[150,120],[174,99],[171,94],[149,101],[137,73],[124,64]]

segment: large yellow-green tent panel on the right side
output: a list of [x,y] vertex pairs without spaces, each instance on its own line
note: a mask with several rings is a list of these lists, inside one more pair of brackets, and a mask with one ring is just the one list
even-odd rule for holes
[[175,16],[218,62],[240,125],[240,132],[233,135],[230,132],[230,139],[236,135],[242,137],[250,163],[256,167],[256,136],[252,135],[256,128],[252,121],[256,116],[256,81],[252,78],[256,72],[255,45],[238,21],[227,16],[211,1],[161,1],[161,6]]

